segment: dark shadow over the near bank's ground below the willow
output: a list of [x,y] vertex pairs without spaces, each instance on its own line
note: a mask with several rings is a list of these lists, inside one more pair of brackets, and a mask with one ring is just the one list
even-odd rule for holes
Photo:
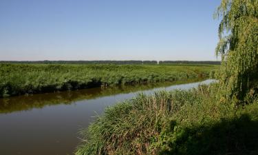
[[[171,122],[171,125],[175,127],[176,124]],[[175,141],[169,142],[169,149],[160,154],[258,154],[258,121],[253,121],[248,114],[213,125],[184,128],[178,135]]]

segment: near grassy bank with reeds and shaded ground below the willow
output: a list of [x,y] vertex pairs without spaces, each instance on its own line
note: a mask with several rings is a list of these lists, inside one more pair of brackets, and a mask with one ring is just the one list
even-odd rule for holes
[[235,109],[217,84],[140,94],[83,130],[81,154],[258,154],[258,102]]

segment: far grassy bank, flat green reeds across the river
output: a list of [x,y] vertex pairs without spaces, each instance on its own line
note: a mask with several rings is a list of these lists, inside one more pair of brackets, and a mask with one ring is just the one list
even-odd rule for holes
[[0,97],[208,77],[217,65],[0,64]]

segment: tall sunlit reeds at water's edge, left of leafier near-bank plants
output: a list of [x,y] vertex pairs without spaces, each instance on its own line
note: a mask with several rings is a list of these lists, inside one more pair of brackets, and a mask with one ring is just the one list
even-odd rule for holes
[[156,141],[166,116],[195,97],[179,90],[173,94],[139,94],[136,99],[109,107],[89,130],[82,132],[87,141],[76,154],[157,154],[151,141]]

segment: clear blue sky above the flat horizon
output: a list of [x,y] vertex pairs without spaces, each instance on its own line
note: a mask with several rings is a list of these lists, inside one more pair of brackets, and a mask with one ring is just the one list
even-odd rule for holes
[[216,61],[220,0],[0,0],[0,61]]

